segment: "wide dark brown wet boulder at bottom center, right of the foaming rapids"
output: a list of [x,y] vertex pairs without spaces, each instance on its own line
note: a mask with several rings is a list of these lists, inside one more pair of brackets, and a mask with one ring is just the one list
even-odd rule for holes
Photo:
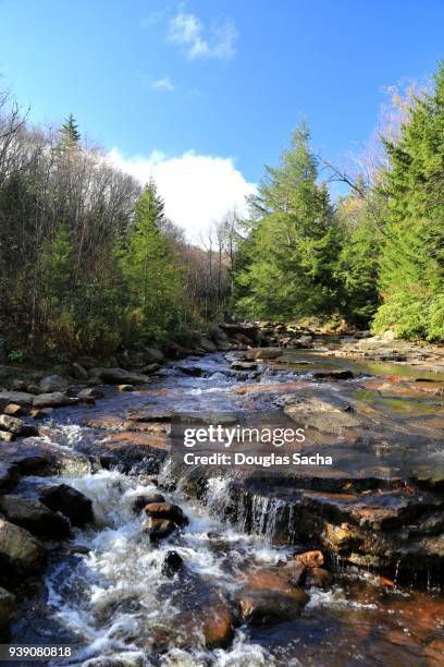
[[246,592],[238,599],[240,617],[249,626],[272,626],[300,616],[308,595],[301,590],[293,594],[271,590]]

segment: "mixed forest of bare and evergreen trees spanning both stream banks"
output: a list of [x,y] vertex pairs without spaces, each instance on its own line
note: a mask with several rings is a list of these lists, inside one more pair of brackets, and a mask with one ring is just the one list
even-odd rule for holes
[[[72,114],[36,128],[1,94],[0,357],[186,342],[229,317],[444,342],[444,63],[392,106],[351,170],[319,155],[303,122],[248,215],[229,211],[197,246],[156,183],[110,166]],[[332,182],[348,193],[333,199]]]

